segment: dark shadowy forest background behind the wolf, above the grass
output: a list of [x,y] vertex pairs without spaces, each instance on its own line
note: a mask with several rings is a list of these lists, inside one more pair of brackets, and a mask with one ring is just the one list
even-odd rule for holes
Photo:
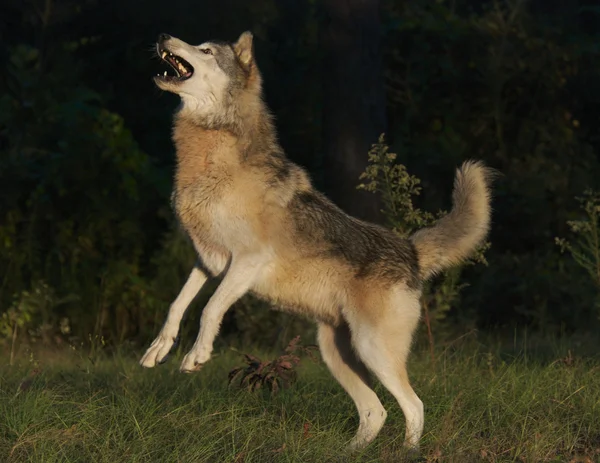
[[[468,158],[503,174],[487,264],[428,290],[435,333],[597,332],[595,3],[3,0],[0,27],[4,339],[137,344],[157,332],[194,255],[169,206],[177,98],[151,81],[164,69],[153,43],[244,30],[282,145],[349,212],[398,224],[448,209]],[[371,173],[396,163],[414,177],[378,195],[357,186],[382,133]],[[380,156],[388,146],[395,158]],[[244,298],[222,332],[273,345],[309,326]]]

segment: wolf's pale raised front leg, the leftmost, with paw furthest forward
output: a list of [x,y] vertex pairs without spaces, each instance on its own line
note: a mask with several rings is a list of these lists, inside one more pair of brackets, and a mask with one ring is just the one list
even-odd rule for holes
[[171,304],[167,320],[163,325],[158,337],[150,345],[142,359],[140,365],[146,368],[152,368],[158,363],[162,363],[173,347],[177,333],[179,332],[179,323],[183,314],[194,300],[200,288],[207,280],[206,274],[198,265],[194,266],[190,276],[181,288],[179,295]]

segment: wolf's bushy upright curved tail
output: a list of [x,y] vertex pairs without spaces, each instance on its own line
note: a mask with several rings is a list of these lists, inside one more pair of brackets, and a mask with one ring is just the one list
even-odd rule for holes
[[485,239],[490,228],[492,173],[482,162],[465,162],[456,172],[450,213],[410,237],[424,280],[468,258]]

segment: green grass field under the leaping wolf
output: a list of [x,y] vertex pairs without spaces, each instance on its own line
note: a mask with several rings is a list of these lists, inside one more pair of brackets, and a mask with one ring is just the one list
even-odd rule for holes
[[[239,353],[223,349],[194,375],[177,371],[182,353],[152,370],[124,352],[92,359],[82,351],[37,354],[2,365],[0,461],[406,457],[404,418],[380,387],[386,425],[370,447],[349,454],[344,445],[357,415],[322,363],[303,360],[298,382],[271,397],[227,387],[228,371],[242,363]],[[568,345],[506,350],[465,341],[440,349],[435,362],[417,349],[410,372],[425,403],[421,461],[600,461],[598,356],[570,355]]]

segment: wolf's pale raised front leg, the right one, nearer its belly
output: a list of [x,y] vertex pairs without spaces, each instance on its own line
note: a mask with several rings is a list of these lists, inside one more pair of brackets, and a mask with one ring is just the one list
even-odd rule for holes
[[210,359],[213,343],[225,312],[251,288],[265,263],[266,259],[261,255],[232,259],[223,281],[204,307],[198,338],[183,359],[180,371],[183,373],[197,371]]

